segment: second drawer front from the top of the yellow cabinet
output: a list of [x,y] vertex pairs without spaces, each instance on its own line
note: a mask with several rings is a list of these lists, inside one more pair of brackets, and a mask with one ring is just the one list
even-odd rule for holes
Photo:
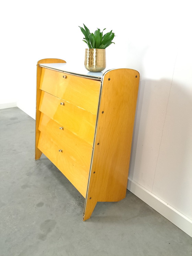
[[93,145],[96,115],[86,110],[64,102],[44,91],[41,92],[39,110],[61,126]]

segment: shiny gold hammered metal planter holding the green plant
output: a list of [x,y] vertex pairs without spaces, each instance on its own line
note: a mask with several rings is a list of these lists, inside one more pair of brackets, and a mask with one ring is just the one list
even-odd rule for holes
[[91,72],[101,72],[106,68],[105,49],[85,49],[85,68]]

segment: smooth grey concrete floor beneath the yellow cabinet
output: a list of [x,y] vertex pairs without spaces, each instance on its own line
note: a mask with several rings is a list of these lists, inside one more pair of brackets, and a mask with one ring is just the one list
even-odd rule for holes
[[83,222],[84,198],[43,155],[35,120],[0,110],[0,256],[191,256],[192,238],[127,190]]

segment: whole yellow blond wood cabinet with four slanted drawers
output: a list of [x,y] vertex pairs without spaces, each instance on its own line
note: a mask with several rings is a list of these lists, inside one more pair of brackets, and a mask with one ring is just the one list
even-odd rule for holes
[[64,60],[37,63],[36,150],[85,198],[83,220],[98,201],[126,195],[139,73],[85,73]]

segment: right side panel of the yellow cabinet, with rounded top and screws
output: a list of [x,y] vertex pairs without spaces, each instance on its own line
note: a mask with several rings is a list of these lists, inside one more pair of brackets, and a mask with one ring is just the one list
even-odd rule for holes
[[[135,70],[116,69],[104,75],[84,220],[91,217],[95,201],[125,197],[138,88]],[[89,200],[94,201],[91,207]]]

